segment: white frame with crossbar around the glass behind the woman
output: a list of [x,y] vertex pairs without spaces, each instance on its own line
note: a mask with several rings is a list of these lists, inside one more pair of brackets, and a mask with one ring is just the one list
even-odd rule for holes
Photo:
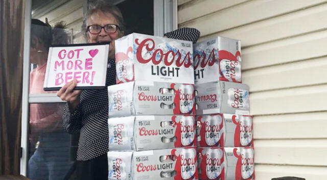
[[[83,0],[87,2],[87,0]],[[60,0],[52,4],[52,9],[55,6],[67,2]],[[85,3],[84,3],[85,4]],[[47,6],[48,7],[48,6]],[[22,82],[22,114],[21,114],[21,159],[20,159],[20,174],[27,175],[28,165],[28,132],[29,132],[29,104],[30,103],[51,103],[63,102],[56,94],[29,94],[29,74],[30,74],[30,38],[31,38],[31,18],[32,18],[32,0],[25,1],[25,29],[24,29],[24,63],[23,63],[23,82]],[[42,14],[41,8],[38,12],[34,12],[34,16]],[[85,8],[84,8],[85,9]],[[153,0],[153,30],[155,36],[163,36],[165,33],[177,29],[177,0]]]

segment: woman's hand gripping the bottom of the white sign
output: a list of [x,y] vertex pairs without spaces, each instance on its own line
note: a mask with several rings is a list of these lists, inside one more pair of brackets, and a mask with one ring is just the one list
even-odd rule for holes
[[57,93],[57,96],[63,100],[67,101],[69,105],[69,110],[74,112],[77,106],[80,103],[80,93],[82,90],[74,90],[77,85],[77,81],[74,79],[71,82],[68,82],[60,88]]

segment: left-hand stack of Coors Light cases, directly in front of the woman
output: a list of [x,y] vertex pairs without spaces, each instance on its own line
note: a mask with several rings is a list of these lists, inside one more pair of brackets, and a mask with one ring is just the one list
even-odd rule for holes
[[198,179],[193,46],[133,33],[115,41],[109,179]]

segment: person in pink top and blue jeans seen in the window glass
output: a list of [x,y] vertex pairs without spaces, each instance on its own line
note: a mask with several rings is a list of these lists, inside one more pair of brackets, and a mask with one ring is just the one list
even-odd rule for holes
[[[30,73],[30,94],[43,91],[48,51],[51,44],[67,44],[68,36],[59,22],[55,28],[38,19],[31,21],[30,62],[37,67]],[[29,159],[28,177],[32,180],[62,180],[73,162],[70,136],[62,129],[62,104],[30,104],[30,146],[35,148]]]

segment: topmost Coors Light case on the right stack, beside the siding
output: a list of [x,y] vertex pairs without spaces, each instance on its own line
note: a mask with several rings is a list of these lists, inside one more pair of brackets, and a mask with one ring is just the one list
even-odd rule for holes
[[193,52],[195,84],[242,82],[240,40],[218,36],[194,44]]

